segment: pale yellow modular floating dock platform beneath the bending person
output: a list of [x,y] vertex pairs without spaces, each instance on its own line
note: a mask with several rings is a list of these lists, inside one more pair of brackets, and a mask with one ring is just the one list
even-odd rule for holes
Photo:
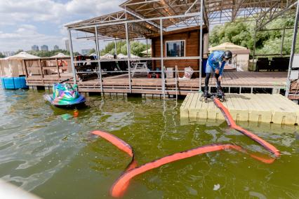
[[[282,95],[227,94],[222,104],[227,107],[234,121],[298,125],[299,106]],[[187,94],[180,107],[180,118],[190,122],[225,120],[213,99],[204,102],[199,92]]]

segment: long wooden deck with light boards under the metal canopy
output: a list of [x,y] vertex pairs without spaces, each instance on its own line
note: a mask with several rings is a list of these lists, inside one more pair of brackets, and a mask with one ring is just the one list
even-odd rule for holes
[[[286,86],[286,72],[250,72],[250,71],[225,71],[222,78],[222,87],[225,92],[255,92],[254,88],[269,88],[267,92],[279,93],[280,89]],[[51,86],[53,83],[62,81],[66,78],[72,78],[71,73],[62,73],[58,75],[28,76],[27,85],[29,86]],[[81,92],[101,92],[100,80],[93,79],[89,81],[79,81],[79,91]],[[174,78],[166,78],[166,95],[175,95]],[[72,83],[72,81],[70,81]],[[201,79],[201,85],[204,85],[204,78]],[[161,95],[161,78],[146,78],[145,76],[131,78],[131,88],[128,81],[128,74],[118,76],[109,76],[102,78],[102,88],[104,92],[121,93],[142,93]],[[210,79],[210,88],[215,87],[215,78]],[[232,90],[231,90],[232,88]],[[187,95],[188,92],[197,92],[199,90],[199,78],[178,81],[178,95]],[[249,91],[248,91],[249,90]]]

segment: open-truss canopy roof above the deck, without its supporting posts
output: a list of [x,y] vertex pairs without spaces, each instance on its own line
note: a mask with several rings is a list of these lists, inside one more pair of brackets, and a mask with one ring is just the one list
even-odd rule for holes
[[[123,11],[102,15],[66,25],[69,29],[109,38],[126,39],[125,23],[128,25],[128,38],[147,37],[159,33],[160,18],[163,31],[168,28],[190,27],[200,22],[199,0],[129,0],[120,5]],[[262,26],[277,15],[294,8],[295,0],[205,0],[204,24],[234,21],[239,18],[255,18]],[[294,9],[293,9],[294,10]],[[174,18],[173,18],[174,17]]]

